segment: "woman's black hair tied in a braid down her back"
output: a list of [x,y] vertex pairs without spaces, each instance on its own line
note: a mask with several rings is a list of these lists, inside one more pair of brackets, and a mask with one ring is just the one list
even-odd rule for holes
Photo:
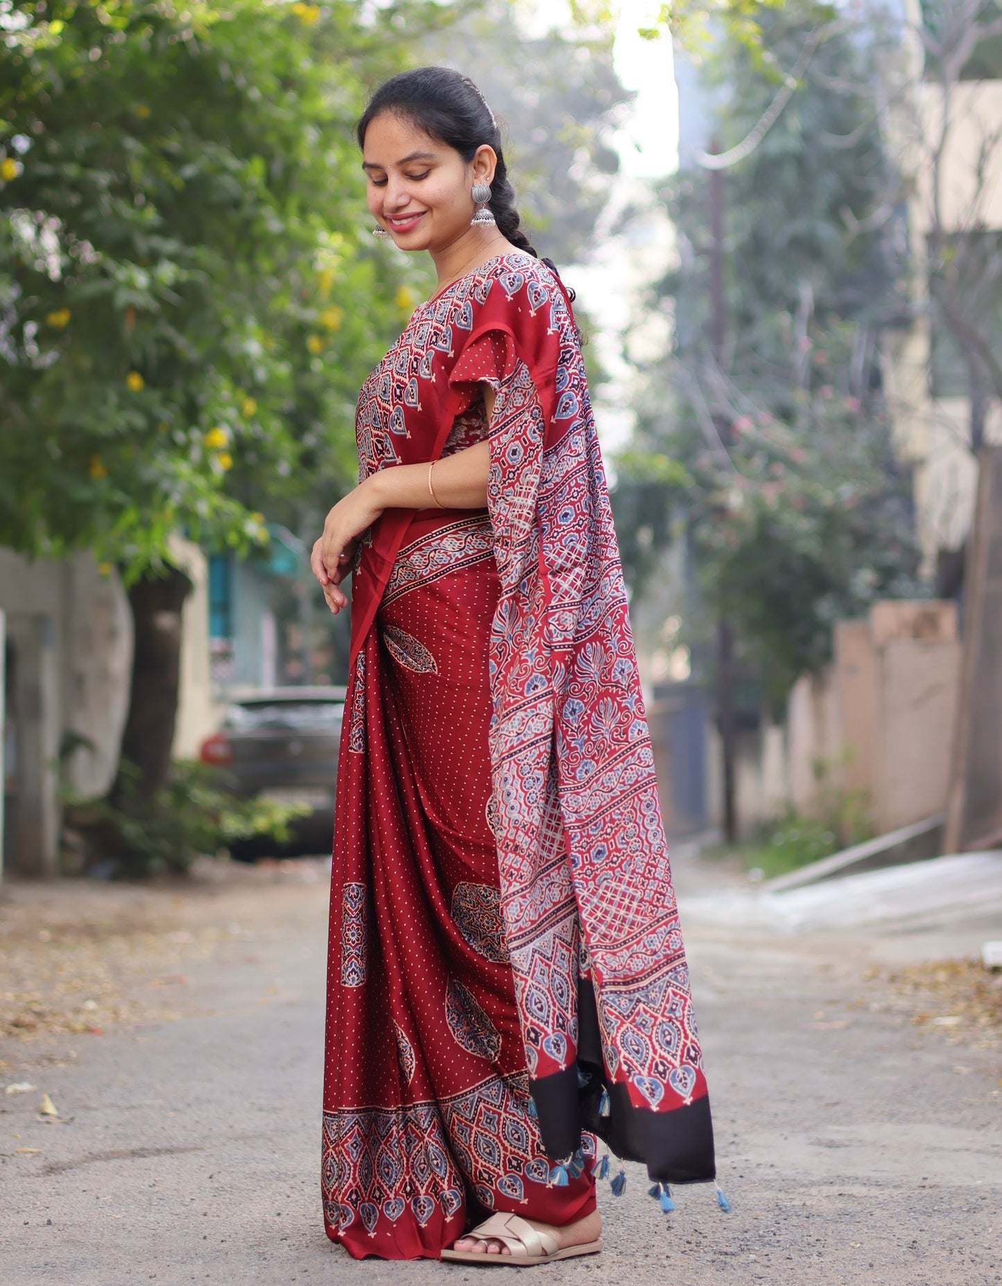
[[[440,139],[454,148],[464,161],[472,161],[478,147],[486,143],[494,148],[498,165],[490,185],[487,207],[494,215],[500,234],[539,258],[522,228],[515,206],[515,189],[508,181],[508,166],[502,150],[500,130],[484,95],[460,72],[450,67],[415,67],[397,72],[381,85],[369,99],[358,126],[359,147],[365,145],[365,131],[381,112],[392,112],[412,121],[432,139]],[[543,262],[554,273],[556,266]],[[574,298],[572,292],[569,292]]]

